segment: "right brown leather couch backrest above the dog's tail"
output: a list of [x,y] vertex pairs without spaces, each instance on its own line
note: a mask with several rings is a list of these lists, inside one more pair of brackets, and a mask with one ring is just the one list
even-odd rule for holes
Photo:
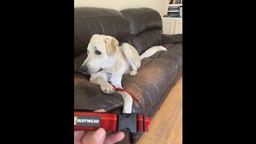
[[133,45],[139,54],[151,46],[162,44],[163,23],[161,15],[156,10],[142,7],[120,12],[128,22]]

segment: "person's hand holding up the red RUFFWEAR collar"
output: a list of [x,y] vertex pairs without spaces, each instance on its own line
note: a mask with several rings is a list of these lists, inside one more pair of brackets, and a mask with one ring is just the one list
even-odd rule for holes
[[[95,112],[106,113],[106,110],[99,109]],[[106,131],[102,128],[99,128],[97,131],[74,131],[74,144],[112,144],[124,139],[124,132],[120,131],[118,133],[106,134]]]

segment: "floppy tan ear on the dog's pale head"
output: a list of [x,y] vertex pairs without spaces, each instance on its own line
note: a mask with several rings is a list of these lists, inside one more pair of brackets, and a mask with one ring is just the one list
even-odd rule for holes
[[119,45],[117,39],[112,36],[106,36],[105,42],[106,42],[106,46],[107,46],[108,55],[113,55]]

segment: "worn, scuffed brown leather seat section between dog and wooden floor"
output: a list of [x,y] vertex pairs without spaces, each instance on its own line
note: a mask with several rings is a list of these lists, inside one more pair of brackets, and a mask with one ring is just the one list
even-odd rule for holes
[[142,60],[136,76],[124,76],[124,89],[141,100],[134,101],[133,113],[148,114],[182,71],[182,44],[165,44],[167,51]]

